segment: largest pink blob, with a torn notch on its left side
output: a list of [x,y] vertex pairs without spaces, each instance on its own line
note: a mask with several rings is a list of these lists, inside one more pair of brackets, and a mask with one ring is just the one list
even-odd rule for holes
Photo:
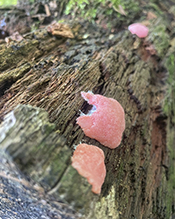
[[93,105],[89,114],[77,118],[85,135],[111,149],[119,146],[125,129],[125,113],[120,103],[92,92],[81,92],[81,95]]

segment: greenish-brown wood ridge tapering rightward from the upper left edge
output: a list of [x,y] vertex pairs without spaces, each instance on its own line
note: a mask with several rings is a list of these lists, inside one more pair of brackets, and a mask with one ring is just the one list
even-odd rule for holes
[[18,65],[21,61],[37,60],[45,51],[48,52],[60,45],[65,39],[55,39],[45,29],[26,34],[20,42],[12,41],[0,45],[0,70],[6,70]]

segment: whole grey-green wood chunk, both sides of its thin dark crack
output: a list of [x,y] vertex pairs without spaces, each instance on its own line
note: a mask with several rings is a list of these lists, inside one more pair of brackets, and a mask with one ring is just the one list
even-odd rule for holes
[[59,197],[64,193],[72,206],[83,209],[90,186],[70,166],[71,150],[54,129],[43,109],[18,105],[1,124],[1,150],[10,154],[23,173],[39,182],[48,194],[59,187]]

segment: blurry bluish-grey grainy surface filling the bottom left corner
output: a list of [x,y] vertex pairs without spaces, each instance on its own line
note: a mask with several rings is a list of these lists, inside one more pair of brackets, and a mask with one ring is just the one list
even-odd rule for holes
[[29,181],[2,149],[0,153],[1,218],[79,218],[68,205],[54,200],[42,187]]

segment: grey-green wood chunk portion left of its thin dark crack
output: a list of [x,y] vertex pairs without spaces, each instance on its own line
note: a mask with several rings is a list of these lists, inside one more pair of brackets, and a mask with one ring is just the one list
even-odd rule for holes
[[43,109],[29,105],[18,105],[0,126],[1,149],[47,188],[54,186],[70,164],[71,151],[54,129]]

